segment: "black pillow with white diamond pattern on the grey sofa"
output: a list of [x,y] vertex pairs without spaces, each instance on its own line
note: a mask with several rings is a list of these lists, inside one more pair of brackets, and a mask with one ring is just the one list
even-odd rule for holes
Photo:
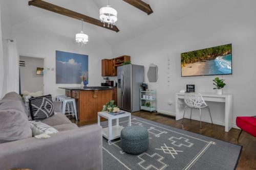
[[53,116],[52,95],[43,95],[29,99],[29,108],[33,120],[39,121]]

